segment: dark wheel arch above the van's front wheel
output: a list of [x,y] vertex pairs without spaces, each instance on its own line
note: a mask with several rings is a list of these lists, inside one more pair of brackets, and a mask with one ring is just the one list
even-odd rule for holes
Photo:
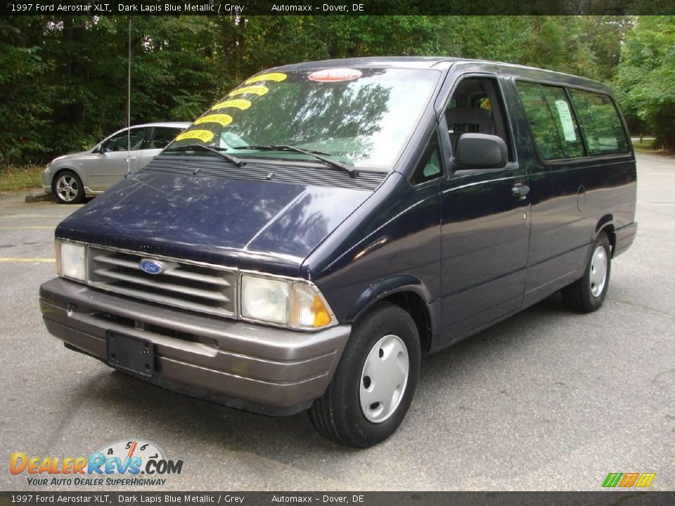
[[433,321],[428,303],[430,294],[422,281],[411,275],[379,280],[359,295],[347,313],[347,320],[358,320],[383,301],[399,306],[413,318],[420,335],[420,349],[423,355],[427,354],[431,348]]

